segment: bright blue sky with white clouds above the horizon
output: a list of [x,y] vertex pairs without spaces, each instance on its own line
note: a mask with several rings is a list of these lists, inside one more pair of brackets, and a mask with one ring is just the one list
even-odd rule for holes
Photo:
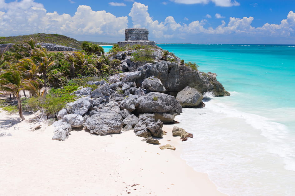
[[145,27],[158,43],[295,44],[293,11],[294,0],[0,0],[0,36],[117,42]]

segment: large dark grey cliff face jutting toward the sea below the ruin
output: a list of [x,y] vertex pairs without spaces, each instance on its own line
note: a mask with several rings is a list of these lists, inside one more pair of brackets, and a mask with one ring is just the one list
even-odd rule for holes
[[200,93],[212,91],[214,96],[227,96],[229,92],[216,80],[216,75],[205,74],[195,71],[185,65],[171,63],[169,61],[157,61],[154,63],[146,63],[136,68],[142,71],[142,74],[135,81],[137,85],[141,85],[145,78],[155,76],[160,79],[168,94],[176,96],[176,94],[186,86],[197,89]]

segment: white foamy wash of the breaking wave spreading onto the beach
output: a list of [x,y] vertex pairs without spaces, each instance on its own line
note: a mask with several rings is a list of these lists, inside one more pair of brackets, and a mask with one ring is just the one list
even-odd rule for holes
[[182,157],[195,170],[208,173],[224,193],[295,195],[295,138],[290,130],[219,99],[202,109],[184,109],[177,117],[179,126],[194,134],[183,144]]

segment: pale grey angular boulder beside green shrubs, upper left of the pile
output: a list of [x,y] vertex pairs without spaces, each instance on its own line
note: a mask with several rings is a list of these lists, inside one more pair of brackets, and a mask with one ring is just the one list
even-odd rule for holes
[[66,110],[68,114],[78,114],[83,116],[86,114],[92,104],[90,96],[81,97],[74,102],[66,104]]

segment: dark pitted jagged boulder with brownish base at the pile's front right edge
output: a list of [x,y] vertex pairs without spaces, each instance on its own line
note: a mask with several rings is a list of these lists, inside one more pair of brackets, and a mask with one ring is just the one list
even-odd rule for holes
[[148,138],[154,136],[156,138],[163,137],[163,123],[160,120],[155,121],[154,114],[139,115],[139,122],[134,127],[135,135]]

